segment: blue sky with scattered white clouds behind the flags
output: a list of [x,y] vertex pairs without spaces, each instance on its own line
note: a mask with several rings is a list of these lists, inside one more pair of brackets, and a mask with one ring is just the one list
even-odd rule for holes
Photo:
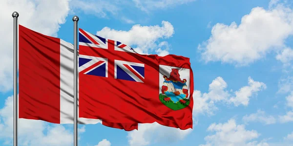
[[[147,54],[190,58],[194,127],[79,125],[80,146],[292,146],[290,0],[1,0],[0,144],[12,144],[12,17],[73,43],[79,27]],[[22,1],[22,2],[20,2]],[[130,37],[127,37],[130,36]],[[21,146],[72,146],[73,125],[20,120]]]

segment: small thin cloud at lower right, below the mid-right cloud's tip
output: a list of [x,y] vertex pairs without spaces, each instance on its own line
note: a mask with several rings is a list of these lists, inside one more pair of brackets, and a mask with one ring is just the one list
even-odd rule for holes
[[265,125],[275,124],[276,119],[272,115],[266,115],[265,111],[257,110],[256,113],[245,115],[242,120],[248,122],[261,122]]

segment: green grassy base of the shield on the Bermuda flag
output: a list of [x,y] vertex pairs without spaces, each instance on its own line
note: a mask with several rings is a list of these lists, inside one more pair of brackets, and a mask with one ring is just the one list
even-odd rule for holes
[[163,95],[162,93],[159,95],[159,99],[160,101],[167,106],[168,108],[172,109],[172,110],[181,110],[186,108],[189,103],[190,100],[189,99],[184,99],[186,101],[185,104],[181,103],[180,101],[178,101],[177,103],[173,103],[173,101],[165,101],[164,98],[168,98],[166,95]]

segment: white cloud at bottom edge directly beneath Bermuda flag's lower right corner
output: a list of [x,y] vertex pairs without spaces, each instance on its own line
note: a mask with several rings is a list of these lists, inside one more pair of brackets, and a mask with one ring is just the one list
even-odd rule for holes
[[[128,132],[127,138],[130,146],[148,146],[154,142],[175,142],[183,140],[192,129],[181,130],[170,128],[158,123],[139,124],[139,130]],[[175,134],[176,133],[176,134]]]

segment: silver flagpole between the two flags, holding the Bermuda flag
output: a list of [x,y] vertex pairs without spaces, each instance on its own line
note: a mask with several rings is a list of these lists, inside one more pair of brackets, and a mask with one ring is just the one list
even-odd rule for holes
[[77,110],[77,79],[78,79],[78,64],[77,64],[77,22],[79,18],[77,16],[74,16],[72,18],[74,22],[74,146],[77,146],[77,119],[78,119],[78,110]]

